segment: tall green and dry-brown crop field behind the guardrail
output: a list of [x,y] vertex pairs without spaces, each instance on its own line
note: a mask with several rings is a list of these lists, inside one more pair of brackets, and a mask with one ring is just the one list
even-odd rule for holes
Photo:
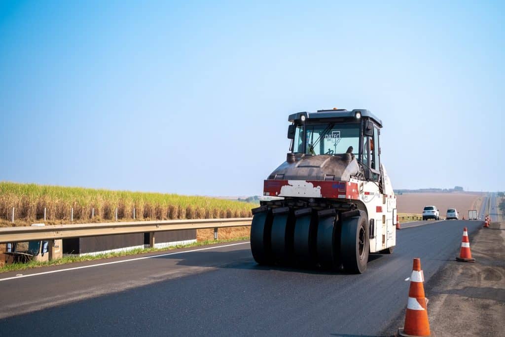
[[180,196],[147,192],[114,191],[81,187],[63,187],[38,184],[0,182],[0,218],[10,220],[12,208],[15,220],[84,222],[115,219],[136,220],[212,219],[251,216],[255,204],[209,197]]

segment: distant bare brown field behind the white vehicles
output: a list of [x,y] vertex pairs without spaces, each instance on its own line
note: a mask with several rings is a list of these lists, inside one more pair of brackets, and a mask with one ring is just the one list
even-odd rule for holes
[[404,193],[396,196],[398,213],[421,214],[424,206],[436,206],[440,215],[445,216],[447,209],[456,208],[460,216],[468,210],[479,210],[482,203],[480,193]]

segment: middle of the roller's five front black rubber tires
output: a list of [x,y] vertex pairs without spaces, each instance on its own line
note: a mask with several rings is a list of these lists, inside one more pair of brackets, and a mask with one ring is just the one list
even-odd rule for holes
[[296,262],[312,265],[316,260],[317,221],[312,214],[296,218],[293,234],[293,255]]

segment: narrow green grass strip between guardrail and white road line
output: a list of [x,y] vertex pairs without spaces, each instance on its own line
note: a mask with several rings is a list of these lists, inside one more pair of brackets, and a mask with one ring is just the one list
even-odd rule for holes
[[27,263],[8,264],[8,265],[5,265],[0,268],[0,273],[7,272],[7,271],[25,270],[25,269],[30,269],[30,268],[45,267],[45,266],[57,266],[57,265],[69,264],[69,263],[73,263],[73,262],[100,260],[100,259],[107,259],[107,258],[113,258],[113,257],[119,257],[119,256],[128,256],[128,255],[144,254],[144,253],[151,253],[151,252],[165,252],[165,251],[170,251],[170,250],[174,250],[177,248],[188,248],[188,247],[198,247],[198,246],[205,246],[205,245],[212,245],[212,244],[222,244],[222,243],[227,243],[227,242],[232,242],[232,241],[240,241],[240,240],[248,240],[248,239],[249,239],[249,236],[243,236],[243,237],[237,237],[237,238],[233,238],[233,239],[207,240],[207,241],[196,242],[196,243],[187,244],[187,245],[173,246],[173,247],[169,247],[169,248],[138,248],[138,249],[132,249],[131,251],[127,251],[127,252],[107,253],[107,254],[100,254],[100,255],[95,255],[95,256],[64,256],[61,259],[53,260],[53,261],[46,261],[46,262],[30,261]]

